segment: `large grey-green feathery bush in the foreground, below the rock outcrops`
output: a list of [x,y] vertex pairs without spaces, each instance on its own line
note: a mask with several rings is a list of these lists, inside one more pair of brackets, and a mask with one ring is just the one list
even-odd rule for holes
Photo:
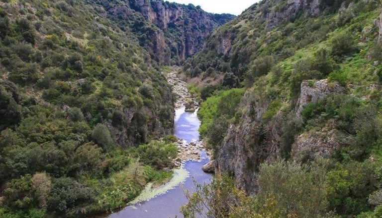
[[257,198],[265,203],[274,198],[283,217],[322,217],[328,202],[322,184],[326,181],[326,162],[308,165],[277,162],[262,164]]

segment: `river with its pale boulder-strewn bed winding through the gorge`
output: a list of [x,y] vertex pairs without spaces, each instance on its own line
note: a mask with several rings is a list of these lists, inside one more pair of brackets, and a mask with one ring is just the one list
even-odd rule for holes
[[[165,73],[164,73],[165,74]],[[209,183],[212,174],[204,173],[201,167],[209,162],[209,152],[199,142],[200,121],[197,108],[194,112],[186,112],[185,103],[195,98],[188,92],[186,83],[176,77],[176,72],[166,73],[168,81],[173,85],[173,93],[178,96],[174,120],[174,135],[179,139],[178,158],[173,160],[174,174],[170,181],[156,186],[149,183],[140,195],[124,209],[107,215],[107,218],[145,217],[168,218],[183,217],[179,208],[188,203],[184,190],[192,192],[194,185]],[[170,170],[170,169],[168,169]]]

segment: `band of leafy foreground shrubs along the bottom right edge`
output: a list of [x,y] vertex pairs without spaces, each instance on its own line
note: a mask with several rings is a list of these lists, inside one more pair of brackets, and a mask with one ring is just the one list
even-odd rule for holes
[[[358,218],[377,218],[382,208],[381,166],[354,162],[353,171],[348,171],[321,158],[305,164],[264,163],[257,194],[248,196],[232,177],[215,177],[210,184],[197,184],[196,192],[188,192],[189,203],[181,211],[186,218],[335,218],[344,209],[356,210]],[[363,205],[370,211],[362,213]]]

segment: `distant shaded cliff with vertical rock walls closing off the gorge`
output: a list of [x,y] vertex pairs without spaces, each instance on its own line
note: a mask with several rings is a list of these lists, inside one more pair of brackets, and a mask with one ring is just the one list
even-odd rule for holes
[[160,64],[180,64],[198,52],[205,36],[234,18],[211,14],[199,6],[163,0],[91,0],[98,10],[118,23],[121,29],[137,34],[139,44]]

